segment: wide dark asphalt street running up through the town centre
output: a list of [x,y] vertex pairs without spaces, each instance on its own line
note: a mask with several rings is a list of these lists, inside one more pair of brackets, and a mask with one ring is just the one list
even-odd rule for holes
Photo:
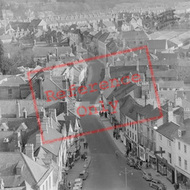
[[[99,82],[102,66],[103,65],[98,61],[89,63],[89,76],[87,84]],[[97,98],[99,98],[99,93],[95,92],[85,94],[82,100],[95,103]],[[82,117],[81,124],[84,132],[103,128],[98,115]],[[117,147],[107,131],[90,134],[87,135],[86,138],[91,151],[92,162],[89,168],[89,178],[85,181],[84,189],[150,189],[148,182],[142,178],[141,171],[128,167],[125,164],[125,158],[122,155],[116,157],[115,151],[117,150]],[[126,170],[125,167],[127,167]],[[127,187],[126,183],[128,184]]]

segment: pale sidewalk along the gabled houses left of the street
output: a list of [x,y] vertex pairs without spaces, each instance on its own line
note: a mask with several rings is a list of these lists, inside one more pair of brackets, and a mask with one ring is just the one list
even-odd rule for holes
[[[82,137],[82,138],[84,138],[86,141],[85,137]],[[83,142],[81,142],[80,144],[81,144],[80,153],[82,155],[84,152],[87,152],[87,159],[84,161],[83,159],[80,158],[79,160],[75,161],[72,169],[68,171],[67,183],[70,181],[73,184],[74,180],[76,178],[79,178],[80,172],[82,172],[83,170],[88,170],[88,167],[90,165],[91,156],[90,156],[89,148],[84,149]],[[88,180],[88,178],[86,180]]]

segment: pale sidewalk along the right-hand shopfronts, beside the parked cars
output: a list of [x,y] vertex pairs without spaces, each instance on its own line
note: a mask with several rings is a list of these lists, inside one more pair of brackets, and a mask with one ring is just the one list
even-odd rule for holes
[[[105,117],[100,117],[100,121],[102,121],[102,124],[105,126],[105,127],[110,127],[112,126],[112,124],[110,123],[109,119],[108,118],[105,118]],[[125,148],[125,145],[121,142],[120,139],[116,140],[116,138],[113,137],[113,130],[108,130],[107,131],[108,134],[110,135],[110,137],[113,139],[115,145],[117,146],[117,148],[119,149],[119,151],[125,155],[126,153],[126,148]],[[165,177],[165,176],[162,176],[161,174],[159,174],[156,170],[152,169],[152,168],[146,168],[145,167],[145,164],[143,165],[143,170],[148,172],[148,173],[151,173],[152,174],[152,177],[154,179],[159,179],[160,181],[162,181],[166,187],[167,187],[167,190],[174,190],[174,186],[173,184],[171,184],[171,182]]]

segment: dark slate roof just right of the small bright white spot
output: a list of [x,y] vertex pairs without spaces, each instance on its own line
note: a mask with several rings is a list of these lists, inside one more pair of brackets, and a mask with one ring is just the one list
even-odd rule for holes
[[167,122],[161,125],[156,131],[161,135],[165,136],[166,138],[173,140],[173,135],[179,129],[179,125],[173,122]]

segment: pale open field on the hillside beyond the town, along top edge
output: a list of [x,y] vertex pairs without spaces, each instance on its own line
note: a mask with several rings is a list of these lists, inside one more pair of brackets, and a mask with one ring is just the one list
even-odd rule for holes
[[[0,0],[3,1],[3,0]],[[5,0],[4,0],[5,1]],[[31,10],[44,11],[50,10],[57,14],[72,12],[90,12],[92,10],[107,9],[146,9],[154,8],[190,8],[189,0],[6,0],[6,2],[29,6]],[[40,6],[39,6],[40,3]]]

